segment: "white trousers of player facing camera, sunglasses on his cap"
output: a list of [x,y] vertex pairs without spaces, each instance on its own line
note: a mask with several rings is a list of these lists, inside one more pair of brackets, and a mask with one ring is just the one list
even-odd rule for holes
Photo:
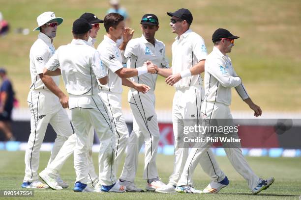
[[134,116],[133,131],[130,134],[127,154],[120,178],[133,182],[138,167],[138,155],[145,144],[144,179],[157,178],[157,149],[160,139],[157,114],[155,113],[155,95],[153,91],[143,94],[128,92],[128,102]]

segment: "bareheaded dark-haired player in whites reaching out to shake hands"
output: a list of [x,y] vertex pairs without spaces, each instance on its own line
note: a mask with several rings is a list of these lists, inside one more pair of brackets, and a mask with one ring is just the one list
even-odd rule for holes
[[[104,18],[104,26],[107,34],[99,44],[97,50],[100,53],[100,59],[104,66],[108,67],[109,82],[100,84],[100,97],[104,101],[107,109],[113,116],[113,126],[116,130],[116,151],[115,151],[115,169],[128,143],[128,130],[122,116],[121,93],[122,86],[131,87],[139,92],[146,93],[150,87],[130,81],[129,77],[143,75],[146,73],[155,73],[154,66],[146,64],[136,69],[127,69],[122,66],[123,55],[120,50],[124,50],[128,41],[133,37],[130,28],[124,27],[123,17],[118,13],[109,13]],[[123,36],[123,42],[120,46],[116,43]]]

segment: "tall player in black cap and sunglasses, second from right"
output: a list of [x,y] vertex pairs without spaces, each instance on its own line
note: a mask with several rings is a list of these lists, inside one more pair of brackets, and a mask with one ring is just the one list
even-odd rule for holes
[[[166,78],[166,83],[176,88],[173,101],[173,130],[175,136],[175,160],[174,172],[169,177],[169,183],[156,192],[175,192],[176,185],[181,177],[183,168],[188,157],[188,148],[179,147],[178,136],[183,133],[183,127],[191,125],[185,119],[201,119],[201,104],[204,97],[203,79],[207,49],[203,38],[190,29],[192,14],[188,9],[181,8],[175,12],[168,12],[171,16],[172,32],[177,33],[175,42],[172,45],[172,68],[157,69],[158,74]],[[223,181],[226,175],[220,170],[213,153],[210,149],[202,155],[200,162],[203,170],[211,180]],[[206,164],[203,164],[206,163]],[[211,167],[207,166],[207,163]],[[191,185],[185,188],[189,193],[201,193]]]

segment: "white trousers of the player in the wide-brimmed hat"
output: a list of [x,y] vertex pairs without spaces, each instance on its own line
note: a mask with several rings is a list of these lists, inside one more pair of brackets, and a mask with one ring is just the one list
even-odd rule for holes
[[30,90],[27,101],[31,118],[30,136],[25,152],[24,182],[32,182],[38,180],[40,148],[48,124],[57,133],[48,163],[55,159],[63,143],[72,135],[73,130],[59,98],[52,92],[43,89]]

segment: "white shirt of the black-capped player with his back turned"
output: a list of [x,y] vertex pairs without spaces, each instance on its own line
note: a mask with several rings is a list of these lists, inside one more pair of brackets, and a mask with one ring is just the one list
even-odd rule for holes
[[59,67],[69,95],[97,94],[99,89],[96,79],[107,75],[98,51],[85,40],[74,39],[70,44],[59,47],[47,62],[46,68],[55,71]]

